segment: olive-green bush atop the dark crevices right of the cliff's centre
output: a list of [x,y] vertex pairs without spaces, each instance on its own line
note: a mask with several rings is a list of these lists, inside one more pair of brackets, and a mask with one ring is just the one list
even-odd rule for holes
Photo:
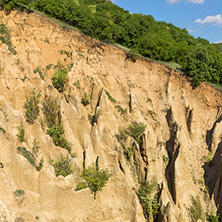
[[138,144],[141,144],[142,141],[140,136],[145,132],[146,125],[144,123],[138,123],[133,121],[127,129],[127,134],[131,136]]

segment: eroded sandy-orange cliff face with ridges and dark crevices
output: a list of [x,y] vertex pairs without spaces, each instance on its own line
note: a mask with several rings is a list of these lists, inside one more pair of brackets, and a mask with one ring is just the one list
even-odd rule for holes
[[[0,221],[146,221],[136,192],[153,178],[160,189],[156,221],[190,221],[191,200],[198,196],[205,212],[222,215],[221,91],[207,84],[194,90],[162,64],[134,63],[119,48],[35,14],[1,12],[1,23],[17,53],[1,44]],[[70,67],[63,93],[51,81],[58,61]],[[42,110],[33,125],[26,122],[24,104],[34,88],[41,101],[52,97],[61,107],[65,138],[77,154],[67,177],[56,177],[50,163],[68,152],[46,133]],[[87,106],[84,93],[91,95]],[[133,152],[127,158],[116,135],[133,121],[146,130],[141,143],[128,137]],[[22,143],[16,136],[21,124]],[[17,151],[32,151],[34,139],[37,160],[44,159],[40,171]],[[83,167],[96,160],[112,176],[94,199],[89,189],[75,188]]]

